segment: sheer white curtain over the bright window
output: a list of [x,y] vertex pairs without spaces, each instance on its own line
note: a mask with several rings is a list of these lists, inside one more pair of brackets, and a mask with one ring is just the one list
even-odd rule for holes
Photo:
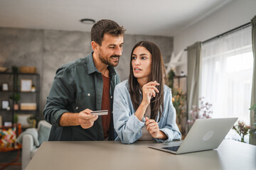
[[213,104],[212,118],[238,117],[250,125],[251,39],[250,26],[202,45],[199,95]]

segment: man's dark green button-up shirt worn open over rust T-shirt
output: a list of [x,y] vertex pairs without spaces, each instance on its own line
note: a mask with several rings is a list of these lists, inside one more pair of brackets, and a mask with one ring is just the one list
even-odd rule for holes
[[[114,86],[120,79],[113,67],[110,71],[110,109],[112,114]],[[52,125],[49,140],[104,140],[101,117],[91,128],[78,126],[60,127],[63,113],[79,113],[89,108],[100,111],[102,105],[102,74],[97,70],[92,53],[60,67],[53,80],[43,115]],[[113,120],[110,123],[110,140],[114,140]]]

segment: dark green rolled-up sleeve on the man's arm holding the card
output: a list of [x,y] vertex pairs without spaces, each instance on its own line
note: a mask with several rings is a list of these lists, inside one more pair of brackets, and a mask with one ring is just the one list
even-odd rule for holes
[[75,98],[75,84],[67,67],[60,67],[54,77],[43,115],[48,123],[59,126],[60,117],[67,110],[68,103]]

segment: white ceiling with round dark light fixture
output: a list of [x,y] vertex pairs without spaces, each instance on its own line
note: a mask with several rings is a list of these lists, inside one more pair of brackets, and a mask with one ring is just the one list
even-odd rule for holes
[[90,31],[82,18],[137,35],[174,36],[233,0],[0,0],[0,27]]

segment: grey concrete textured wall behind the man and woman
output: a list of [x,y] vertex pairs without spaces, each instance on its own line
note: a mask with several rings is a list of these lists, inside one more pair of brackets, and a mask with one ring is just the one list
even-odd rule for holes
[[[140,40],[156,43],[164,62],[169,62],[174,47],[173,38],[124,35],[123,53],[116,67],[121,80],[128,78],[130,53]],[[0,67],[9,67],[9,72],[13,65],[37,67],[41,75],[42,113],[56,69],[66,62],[87,56],[92,52],[90,42],[89,32],[0,28]]]

